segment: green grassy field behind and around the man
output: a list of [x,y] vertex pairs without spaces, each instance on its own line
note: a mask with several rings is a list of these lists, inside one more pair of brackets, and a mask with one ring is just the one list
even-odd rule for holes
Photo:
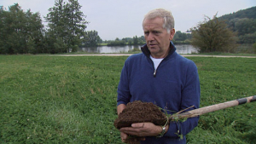
[[[0,143],[121,143],[113,121],[126,58],[0,55]],[[256,95],[256,59],[188,58],[201,107]],[[202,115],[188,143],[254,143],[255,104]]]

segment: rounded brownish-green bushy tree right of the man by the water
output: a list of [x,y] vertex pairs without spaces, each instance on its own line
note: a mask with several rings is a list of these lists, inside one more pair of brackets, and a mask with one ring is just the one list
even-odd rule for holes
[[236,33],[232,32],[224,20],[218,20],[215,14],[212,20],[205,21],[192,29],[191,44],[200,52],[232,52],[236,47]]

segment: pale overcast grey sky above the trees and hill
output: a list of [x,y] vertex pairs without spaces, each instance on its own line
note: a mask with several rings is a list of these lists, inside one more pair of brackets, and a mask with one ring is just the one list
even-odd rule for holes
[[[19,3],[24,11],[39,12],[44,20],[55,0],[0,0],[9,8]],[[79,0],[81,11],[90,23],[85,31],[96,31],[102,40],[143,36],[143,17],[152,9],[172,12],[176,31],[186,32],[204,20],[205,15],[222,16],[256,6],[256,0]]]

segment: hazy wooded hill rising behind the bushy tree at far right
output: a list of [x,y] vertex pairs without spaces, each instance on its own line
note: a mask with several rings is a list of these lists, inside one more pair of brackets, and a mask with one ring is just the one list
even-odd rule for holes
[[225,20],[229,28],[237,33],[238,43],[256,43],[256,7],[224,14],[218,20]]

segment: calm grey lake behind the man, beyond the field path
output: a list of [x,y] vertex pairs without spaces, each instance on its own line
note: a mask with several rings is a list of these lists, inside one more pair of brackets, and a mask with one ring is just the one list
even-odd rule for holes
[[[192,45],[177,44],[175,45],[177,54],[192,54],[197,53]],[[127,53],[129,50],[138,49],[140,46],[125,45],[125,46],[98,46],[93,48],[81,48],[80,51],[87,53]]]

